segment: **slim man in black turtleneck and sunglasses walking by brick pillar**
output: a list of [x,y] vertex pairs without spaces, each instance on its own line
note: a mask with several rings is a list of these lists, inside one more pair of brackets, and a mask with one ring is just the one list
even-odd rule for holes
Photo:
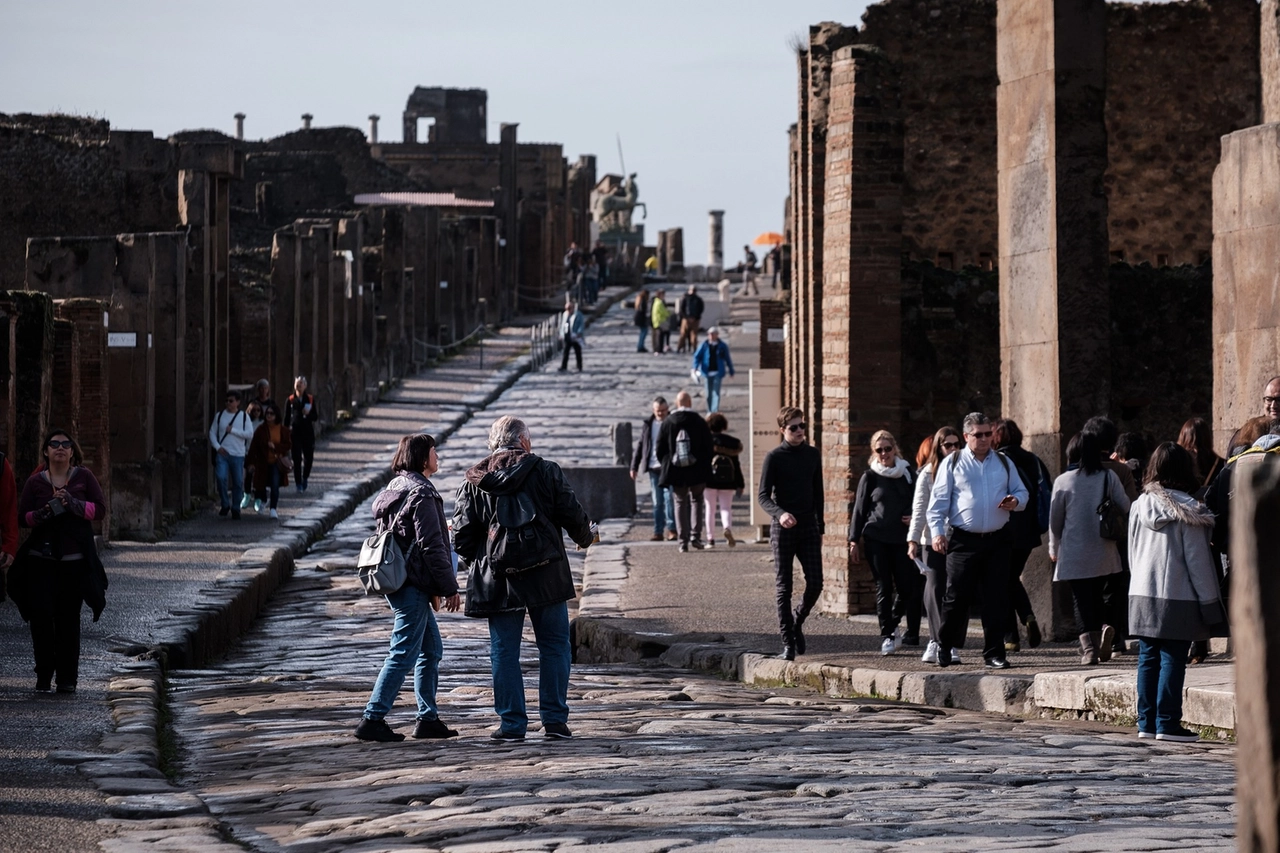
[[[786,406],[778,412],[782,443],[764,457],[760,491],[756,500],[769,514],[769,547],[777,573],[778,630],[782,633],[782,657],[794,661],[804,654],[805,617],[822,593],[823,493],[822,456],[808,441],[804,412]],[[804,596],[791,610],[791,566],[800,560],[804,573]]]

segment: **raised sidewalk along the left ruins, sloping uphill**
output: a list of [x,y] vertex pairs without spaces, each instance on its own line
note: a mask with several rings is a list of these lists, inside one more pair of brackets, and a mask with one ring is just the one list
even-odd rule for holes
[[[602,309],[622,298],[602,297]],[[541,320],[527,318],[527,323]],[[202,663],[248,628],[292,571],[294,555],[349,515],[388,475],[401,435],[447,435],[509,387],[530,366],[529,328],[518,321],[417,377],[317,446],[305,494],[282,491],[279,523],[247,511],[221,519],[206,505],[159,543],[114,542],[102,560],[110,578],[108,608],[83,622],[79,692],[32,692],[31,639],[12,603],[0,605],[0,849],[90,849],[110,809],[74,763],[49,761],[88,751],[141,760],[155,772],[156,690],[160,667]],[[142,697],[138,699],[138,697]],[[131,720],[122,726],[120,720]],[[133,726],[131,730],[129,726]],[[137,768],[134,768],[137,770]],[[143,770],[137,770],[143,772]]]

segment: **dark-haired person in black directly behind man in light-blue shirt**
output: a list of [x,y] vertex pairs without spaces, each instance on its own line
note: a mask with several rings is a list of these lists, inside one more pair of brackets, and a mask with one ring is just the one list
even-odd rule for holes
[[1018,466],[1018,475],[1027,487],[1027,508],[1014,514],[1010,520],[1012,548],[1009,557],[1009,611],[1005,633],[1005,651],[1021,651],[1018,622],[1027,628],[1027,644],[1036,648],[1043,639],[1036,611],[1032,610],[1030,596],[1023,585],[1023,571],[1032,552],[1041,547],[1043,535],[1048,533],[1050,502],[1052,500],[1053,478],[1041,457],[1023,447],[1023,430],[1011,418],[996,421],[992,438],[996,450]]

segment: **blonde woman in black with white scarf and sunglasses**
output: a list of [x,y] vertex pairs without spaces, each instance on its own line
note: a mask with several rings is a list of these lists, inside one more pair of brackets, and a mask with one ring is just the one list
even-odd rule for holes
[[[865,553],[876,578],[876,613],[881,626],[881,654],[900,646],[920,644],[920,596],[924,579],[902,543],[911,521],[914,471],[899,455],[887,429],[872,435],[870,466],[858,482],[854,515],[849,521],[849,553],[861,562]],[[859,547],[861,542],[861,547]],[[896,594],[895,594],[896,593]],[[906,634],[899,622],[906,616]]]

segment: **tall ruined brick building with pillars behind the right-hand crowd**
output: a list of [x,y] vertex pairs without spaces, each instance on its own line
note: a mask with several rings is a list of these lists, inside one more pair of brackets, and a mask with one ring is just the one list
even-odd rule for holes
[[844,532],[876,429],[913,455],[1006,414],[1056,473],[1091,415],[1166,439],[1217,407],[1213,172],[1260,120],[1260,26],[1257,0],[883,0],[810,28],[768,310],[823,450],[826,610],[874,605]]

